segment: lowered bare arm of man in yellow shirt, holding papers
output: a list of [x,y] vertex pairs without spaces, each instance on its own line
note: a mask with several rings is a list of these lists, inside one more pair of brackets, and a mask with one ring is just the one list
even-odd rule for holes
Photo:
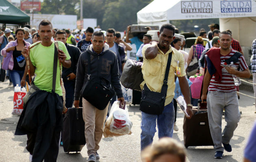
[[[183,77],[178,77],[179,79],[179,84],[180,84],[180,90],[184,96],[184,99],[186,101],[187,104],[190,104],[190,90],[189,90],[189,83],[187,81],[187,78],[185,76]],[[193,116],[193,111],[192,111],[192,107],[187,107],[187,113],[189,114],[189,117],[187,117],[188,119],[191,119],[191,117]]]

